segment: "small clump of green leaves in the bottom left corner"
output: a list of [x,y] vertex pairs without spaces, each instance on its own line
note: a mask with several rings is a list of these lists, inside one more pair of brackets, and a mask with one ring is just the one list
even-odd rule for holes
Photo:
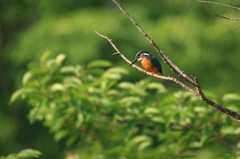
[[0,156],[0,159],[31,159],[38,158],[41,152],[32,149],[25,149],[15,154],[9,154],[8,156]]

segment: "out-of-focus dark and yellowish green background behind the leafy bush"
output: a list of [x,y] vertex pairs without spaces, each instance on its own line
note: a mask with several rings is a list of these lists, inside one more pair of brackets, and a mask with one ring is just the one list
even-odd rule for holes
[[[119,2],[180,69],[198,77],[204,90],[219,98],[239,93],[240,30],[233,30],[240,25],[212,14],[236,17],[237,10],[194,0]],[[233,5],[230,0],[216,2]],[[94,31],[113,39],[130,60],[139,50],[148,50],[162,63],[164,75],[176,77],[111,0],[0,0],[0,155],[26,147],[39,149],[47,158],[64,153],[64,144],[54,142],[47,128],[29,124],[26,103],[8,104],[12,92],[21,86],[27,64],[39,61],[45,51],[52,57],[66,54],[65,63],[71,65],[109,60],[129,69],[125,81],[146,77],[112,56],[115,50]],[[160,82],[170,91],[182,90],[172,82]]]

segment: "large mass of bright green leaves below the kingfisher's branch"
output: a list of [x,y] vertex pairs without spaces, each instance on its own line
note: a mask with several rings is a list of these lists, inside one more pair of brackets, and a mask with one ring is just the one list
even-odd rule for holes
[[[223,141],[240,145],[236,122],[189,92],[168,92],[150,78],[122,82],[129,72],[106,69],[112,64],[105,60],[63,66],[65,55],[47,55],[28,65],[10,102],[25,99],[30,122],[41,121],[83,158],[191,158]],[[223,102],[234,107],[238,99],[228,94]],[[216,155],[222,154],[238,156],[226,147]]]

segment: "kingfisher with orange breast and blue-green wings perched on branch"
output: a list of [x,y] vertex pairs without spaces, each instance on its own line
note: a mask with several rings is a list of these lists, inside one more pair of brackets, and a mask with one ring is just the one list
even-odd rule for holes
[[130,66],[132,66],[136,61],[141,61],[145,72],[152,72],[152,76],[156,73],[159,75],[162,74],[162,66],[158,59],[155,56],[150,55],[147,51],[141,50],[139,51],[135,59],[132,61]]

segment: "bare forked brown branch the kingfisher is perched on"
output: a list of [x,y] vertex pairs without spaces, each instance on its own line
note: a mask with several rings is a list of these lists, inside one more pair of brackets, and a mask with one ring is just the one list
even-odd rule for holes
[[[208,99],[205,95],[204,92],[202,91],[201,85],[199,84],[197,77],[193,77],[193,79],[191,79],[189,76],[187,76],[182,70],[180,70],[164,53],[162,50],[160,50],[160,48],[154,43],[154,41],[147,35],[146,32],[143,31],[143,29],[137,24],[136,21],[133,20],[133,18],[120,6],[120,4],[118,2],[116,2],[116,0],[112,0],[117,6],[118,8],[130,19],[130,21],[138,28],[138,30],[145,36],[145,38],[150,42],[150,45],[152,45],[157,52],[159,53],[159,55],[162,57],[162,59],[164,60],[165,63],[168,64],[168,66],[171,68],[171,70],[173,70],[178,76],[180,76],[181,78],[183,78],[185,81],[187,81],[189,84],[191,84],[192,86],[195,87],[196,91],[193,90],[192,88],[186,86],[184,83],[180,82],[179,80],[177,80],[174,77],[166,77],[166,76],[160,76],[157,74],[154,74],[154,77],[160,78],[160,79],[164,79],[164,80],[169,80],[169,81],[173,81],[176,84],[180,85],[181,87],[183,87],[185,90],[193,93],[194,95],[198,96],[203,102],[211,105],[213,108],[215,108],[216,110],[219,110],[225,114],[227,114],[228,116],[230,116],[231,118],[235,119],[236,121],[240,122],[240,114],[238,114],[237,112],[234,112],[230,109],[227,109],[225,107],[222,107],[220,105],[218,105],[217,103],[211,101],[210,99]],[[205,1],[200,1],[200,2],[205,2]],[[96,32],[96,34],[98,34],[99,36],[101,36],[102,38],[105,38],[109,41],[109,43],[113,46],[113,48],[117,51],[117,53],[114,53],[113,55],[120,55],[127,63],[131,63],[131,61],[129,61],[118,49],[117,47],[113,44],[112,39],[109,39],[107,36],[103,36],[101,34],[99,34],[98,32]],[[134,68],[138,69],[141,72],[144,72],[144,70],[140,67],[138,67],[137,65],[132,65]],[[152,75],[152,73],[147,72],[148,75]]]

